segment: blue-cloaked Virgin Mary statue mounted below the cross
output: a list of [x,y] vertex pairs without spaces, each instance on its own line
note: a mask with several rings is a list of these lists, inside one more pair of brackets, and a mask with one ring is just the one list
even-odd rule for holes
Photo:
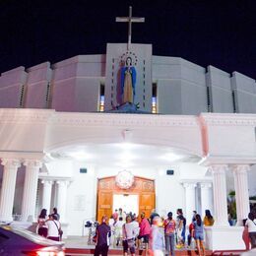
[[127,57],[125,66],[121,68],[122,103],[134,103],[136,70],[132,66],[132,58]]

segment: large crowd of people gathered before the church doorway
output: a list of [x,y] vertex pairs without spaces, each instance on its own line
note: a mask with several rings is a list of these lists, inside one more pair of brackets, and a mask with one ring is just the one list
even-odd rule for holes
[[103,216],[101,224],[96,227],[95,255],[107,255],[110,244],[122,245],[124,255],[130,252],[134,256],[136,248],[139,249],[140,255],[143,250],[154,256],[175,255],[175,248],[190,248],[192,239],[195,241],[198,254],[205,255],[204,225],[214,224],[211,212],[206,210],[202,220],[201,216],[194,211],[187,236],[186,224],[187,220],[183,216],[182,209],[177,209],[176,218],[173,218],[172,212],[169,212],[166,218],[153,212],[149,219],[144,212],[139,218],[135,214],[124,213],[122,209],[115,210],[109,222],[107,217]]

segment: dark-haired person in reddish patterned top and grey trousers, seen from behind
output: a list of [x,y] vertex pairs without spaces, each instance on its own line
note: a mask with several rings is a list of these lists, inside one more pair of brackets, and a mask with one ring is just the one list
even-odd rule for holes
[[175,255],[174,252],[174,236],[175,236],[175,228],[176,223],[172,220],[172,213],[169,212],[167,215],[167,219],[163,222],[164,227],[164,238],[165,238],[165,251],[166,255],[171,253],[171,256]]

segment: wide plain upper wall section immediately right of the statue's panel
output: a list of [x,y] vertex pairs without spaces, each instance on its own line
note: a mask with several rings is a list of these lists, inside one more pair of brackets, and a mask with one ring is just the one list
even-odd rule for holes
[[158,85],[158,112],[207,112],[205,69],[181,58],[153,56],[153,82]]

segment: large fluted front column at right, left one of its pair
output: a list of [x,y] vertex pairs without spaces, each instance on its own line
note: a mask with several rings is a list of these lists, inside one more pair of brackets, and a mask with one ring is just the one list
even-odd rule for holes
[[225,170],[226,164],[211,165],[214,186],[215,225],[228,225]]

